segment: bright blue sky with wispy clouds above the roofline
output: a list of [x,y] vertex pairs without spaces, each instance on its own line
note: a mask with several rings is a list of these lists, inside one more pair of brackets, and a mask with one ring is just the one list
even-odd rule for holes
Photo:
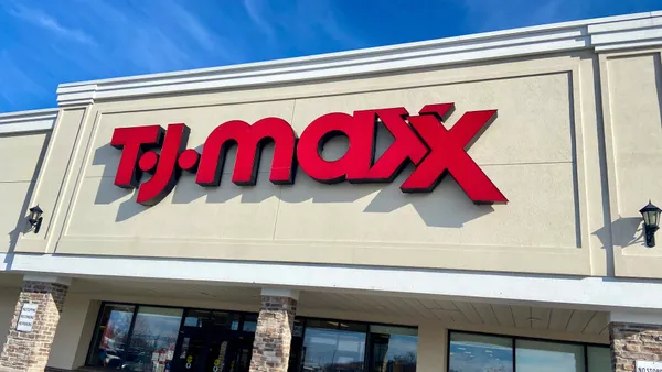
[[57,84],[662,9],[661,0],[0,0],[0,112]]

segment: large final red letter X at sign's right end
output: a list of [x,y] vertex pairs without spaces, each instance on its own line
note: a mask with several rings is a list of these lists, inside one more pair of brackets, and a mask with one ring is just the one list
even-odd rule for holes
[[452,105],[428,105],[409,117],[409,123],[430,147],[427,156],[403,183],[403,193],[429,193],[450,174],[476,204],[508,199],[467,153],[474,136],[496,116],[496,110],[470,111],[447,130],[444,120]]

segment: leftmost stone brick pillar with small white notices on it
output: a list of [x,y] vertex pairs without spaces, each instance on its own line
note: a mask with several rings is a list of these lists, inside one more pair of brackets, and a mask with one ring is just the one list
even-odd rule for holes
[[68,278],[53,276],[23,278],[0,371],[44,371],[70,284]]

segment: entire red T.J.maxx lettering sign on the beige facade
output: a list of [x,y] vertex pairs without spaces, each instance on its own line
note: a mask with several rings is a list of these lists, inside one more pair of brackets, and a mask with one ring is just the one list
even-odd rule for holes
[[[333,184],[389,183],[407,162],[415,169],[402,184],[403,193],[429,193],[446,174],[450,174],[476,204],[505,203],[508,199],[467,154],[482,129],[496,117],[496,110],[470,111],[452,129],[444,121],[453,103],[427,105],[418,116],[405,108],[333,112],[313,120],[297,139],[290,124],[279,118],[265,118],[253,125],[239,120],[218,125],[206,139],[202,154],[186,149],[190,129],[185,124],[117,128],[110,145],[121,149],[115,185],[138,188],[137,201],[152,206],[173,188],[181,171],[197,173],[195,183],[218,186],[227,149],[237,144],[232,182],[253,186],[261,149],[275,143],[269,180],[276,185],[295,182],[297,163],[313,179]],[[383,122],[394,142],[375,161],[377,122]],[[349,139],[348,152],[337,161],[325,161],[320,152],[335,135]],[[154,152],[161,149],[160,154]],[[142,172],[153,174],[140,184]]]

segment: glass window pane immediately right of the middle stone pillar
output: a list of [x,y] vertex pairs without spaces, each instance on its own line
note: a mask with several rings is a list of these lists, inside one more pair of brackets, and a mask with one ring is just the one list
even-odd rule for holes
[[[303,370],[363,371],[366,325],[311,319],[303,336]],[[341,328],[341,329],[338,329]]]

